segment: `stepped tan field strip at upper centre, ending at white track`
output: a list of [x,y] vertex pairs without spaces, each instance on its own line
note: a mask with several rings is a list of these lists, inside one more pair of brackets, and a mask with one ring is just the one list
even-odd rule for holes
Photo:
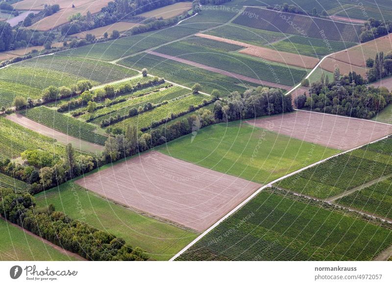
[[319,60],[317,58],[310,57],[310,56],[277,51],[270,48],[262,48],[262,47],[245,44],[230,39],[212,36],[212,35],[196,34],[196,36],[244,47],[245,49],[240,50],[239,51],[240,53],[255,56],[273,62],[283,63],[286,65],[292,65],[292,66],[297,66],[306,69],[313,69],[319,63]]

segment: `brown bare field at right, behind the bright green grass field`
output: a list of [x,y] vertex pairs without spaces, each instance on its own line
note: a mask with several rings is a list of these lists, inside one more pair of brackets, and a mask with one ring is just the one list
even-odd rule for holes
[[246,122],[298,140],[342,150],[392,134],[392,125],[306,111]]

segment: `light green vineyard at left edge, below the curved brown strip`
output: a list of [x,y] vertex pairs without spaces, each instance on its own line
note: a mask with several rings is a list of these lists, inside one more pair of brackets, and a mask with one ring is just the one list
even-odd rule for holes
[[27,149],[42,149],[63,157],[65,148],[55,140],[0,117],[0,159],[17,158]]

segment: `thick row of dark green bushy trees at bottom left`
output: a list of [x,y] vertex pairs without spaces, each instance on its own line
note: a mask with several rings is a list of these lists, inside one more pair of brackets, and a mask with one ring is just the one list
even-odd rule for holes
[[139,247],[132,248],[106,231],[56,212],[52,204],[37,208],[29,193],[0,188],[0,211],[8,221],[92,261],[147,261]]

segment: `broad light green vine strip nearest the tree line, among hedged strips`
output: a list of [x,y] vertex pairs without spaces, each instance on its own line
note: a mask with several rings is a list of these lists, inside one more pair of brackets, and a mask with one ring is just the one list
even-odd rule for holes
[[210,99],[210,96],[202,94],[189,95],[185,98],[172,100],[168,104],[159,106],[138,116],[125,119],[112,125],[112,127],[120,127],[124,129],[128,124],[136,125],[138,129],[149,127],[154,121],[160,121],[161,119],[171,117],[172,114],[187,111],[191,105],[199,105],[203,102],[203,100]]

